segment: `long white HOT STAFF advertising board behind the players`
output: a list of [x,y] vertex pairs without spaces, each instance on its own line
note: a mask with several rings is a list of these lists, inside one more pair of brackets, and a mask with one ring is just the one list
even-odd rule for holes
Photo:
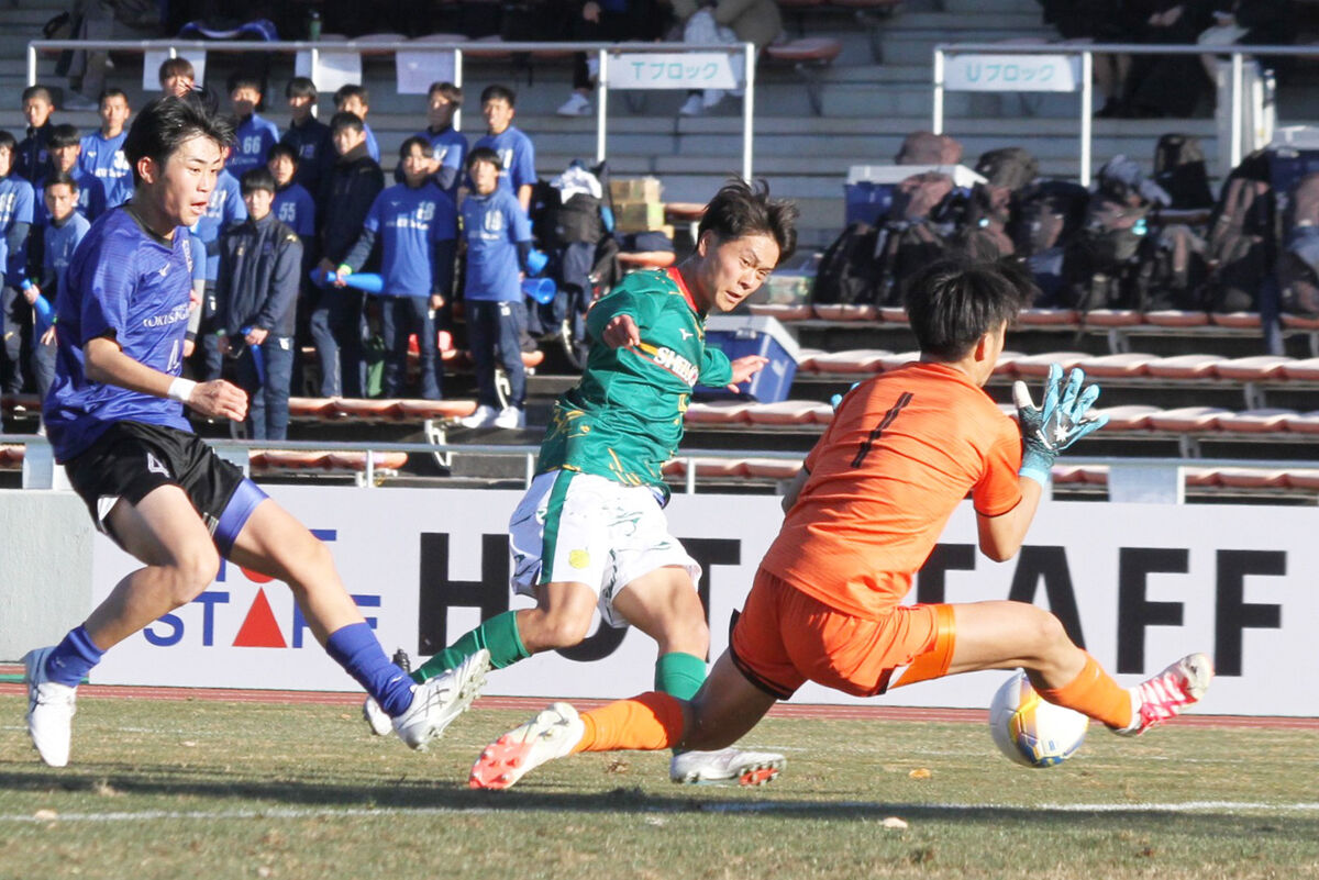
[[[274,486],[272,495],[334,549],[350,591],[386,652],[414,657],[528,599],[508,590],[505,526],[518,493]],[[674,535],[704,566],[712,657],[781,514],[770,497],[677,495]],[[1122,684],[1192,651],[1219,678],[1203,711],[1319,715],[1312,622],[1319,619],[1319,510],[1054,502],[1008,563],[975,549],[959,507],[910,601],[1018,598],[1050,607]],[[98,537],[92,601],[136,564]],[[654,643],[594,628],[575,651],[503,669],[487,693],[617,697],[652,684]],[[900,706],[988,706],[1002,672],[954,676],[878,697]],[[324,656],[282,585],[227,564],[198,599],[127,639],[92,672],[98,684],[356,690]],[[797,701],[853,703],[816,685]]]

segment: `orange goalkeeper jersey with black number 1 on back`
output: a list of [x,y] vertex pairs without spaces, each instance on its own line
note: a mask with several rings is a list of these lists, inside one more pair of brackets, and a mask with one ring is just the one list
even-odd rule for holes
[[852,389],[806,468],[761,566],[861,618],[906,595],[968,491],[985,516],[1021,502],[1017,426],[944,364],[909,364]]

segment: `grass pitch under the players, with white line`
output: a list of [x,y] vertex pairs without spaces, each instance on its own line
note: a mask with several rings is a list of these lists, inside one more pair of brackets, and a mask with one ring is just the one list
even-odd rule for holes
[[980,723],[770,718],[748,742],[789,767],[760,789],[624,754],[472,792],[481,746],[528,713],[474,710],[415,754],[347,706],[84,696],[57,771],[24,709],[0,697],[5,880],[1319,877],[1314,730],[1092,730],[1030,771]]

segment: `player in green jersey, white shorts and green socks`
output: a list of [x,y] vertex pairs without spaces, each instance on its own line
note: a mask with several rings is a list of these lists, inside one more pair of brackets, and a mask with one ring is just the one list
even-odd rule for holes
[[[445,673],[485,648],[503,668],[580,643],[596,609],[658,644],[656,688],[679,700],[706,680],[710,631],[696,593],[700,566],[669,534],[661,468],[682,440],[695,385],[736,385],[765,358],[729,361],[706,348],[711,310],[754,292],[797,245],[794,206],[732,182],[706,207],[696,250],[665,271],[629,275],[592,307],[582,381],[555,403],[539,473],[509,520],[513,589],[536,607],[496,615],[413,673]],[[367,718],[375,714],[367,702]],[[375,725],[373,725],[375,727]],[[381,731],[383,732],[383,731]],[[675,755],[678,783],[764,783],[781,755],[724,750]]]

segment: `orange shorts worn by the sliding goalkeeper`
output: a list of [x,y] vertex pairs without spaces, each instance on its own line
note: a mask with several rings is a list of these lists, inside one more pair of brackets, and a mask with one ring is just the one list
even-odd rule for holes
[[938,678],[948,671],[952,644],[951,605],[898,605],[877,620],[857,618],[765,569],[756,572],[728,640],[737,669],[778,700],[807,681],[873,697],[902,667],[898,685]]

